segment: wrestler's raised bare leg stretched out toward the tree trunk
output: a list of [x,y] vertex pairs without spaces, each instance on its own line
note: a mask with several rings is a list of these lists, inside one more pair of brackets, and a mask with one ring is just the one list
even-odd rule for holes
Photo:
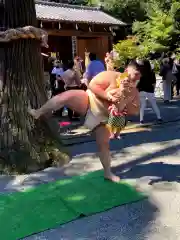
[[69,90],[51,98],[39,109],[30,109],[29,113],[35,119],[38,119],[49,112],[56,111],[66,106],[81,115],[85,115],[88,105],[88,94],[85,91]]

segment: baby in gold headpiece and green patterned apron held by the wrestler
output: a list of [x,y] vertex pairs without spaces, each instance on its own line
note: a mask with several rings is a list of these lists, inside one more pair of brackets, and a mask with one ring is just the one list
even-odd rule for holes
[[[121,76],[117,79],[117,88],[119,89],[119,91],[121,91],[121,98],[119,99],[119,102],[117,102],[116,104],[110,104],[108,108],[109,118],[107,128],[109,129],[111,139],[120,139],[120,132],[126,126],[126,105],[134,99],[131,94],[134,84],[128,82],[126,75],[127,73],[125,72],[121,74]],[[127,83],[128,87],[125,87],[125,84],[127,86]],[[108,95],[109,99],[111,99],[112,95],[110,92],[108,92]]]

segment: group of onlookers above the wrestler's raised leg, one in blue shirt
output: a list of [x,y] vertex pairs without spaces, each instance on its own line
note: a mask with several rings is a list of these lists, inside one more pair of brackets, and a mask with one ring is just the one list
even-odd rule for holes
[[[89,82],[98,73],[105,71],[103,62],[97,59],[96,54],[89,54],[89,63],[85,68],[83,60],[76,56],[73,61],[68,61],[65,65],[59,60],[53,59],[50,67],[51,97],[62,92],[82,89],[87,90]],[[59,117],[63,114],[64,107],[54,112]],[[68,117],[72,120],[79,120],[79,115],[67,108]]]

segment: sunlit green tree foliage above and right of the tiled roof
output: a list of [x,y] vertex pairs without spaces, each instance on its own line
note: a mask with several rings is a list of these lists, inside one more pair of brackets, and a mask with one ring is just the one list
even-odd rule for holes
[[[54,0],[55,1],[55,0]],[[180,2],[179,0],[56,0],[70,4],[102,6],[112,16],[133,23],[133,34],[136,35],[140,47],[136,46],[140,57],[150,52],[162,52],[176,49],[179,45]],[[118,48],[128,47],[130,42],[119,42]],[[126,46],[127,44],[127,46]],[[139,50],[140,49],[140,50]],[[137,54],[137,53],[136,53]],[[135,54],[135,55],[136,55]],[[129,57],[129,56],[128,56]],[[126,57],[126,58],[128,58]],[[124,58],[124,57],[121,57]],[[120,60],[124,62],[123,59]]]

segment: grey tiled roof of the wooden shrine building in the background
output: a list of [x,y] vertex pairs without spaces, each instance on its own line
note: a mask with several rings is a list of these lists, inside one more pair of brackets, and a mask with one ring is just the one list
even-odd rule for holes
[[100,8],[36,1],[37,19],[89,24],[126,25]]

